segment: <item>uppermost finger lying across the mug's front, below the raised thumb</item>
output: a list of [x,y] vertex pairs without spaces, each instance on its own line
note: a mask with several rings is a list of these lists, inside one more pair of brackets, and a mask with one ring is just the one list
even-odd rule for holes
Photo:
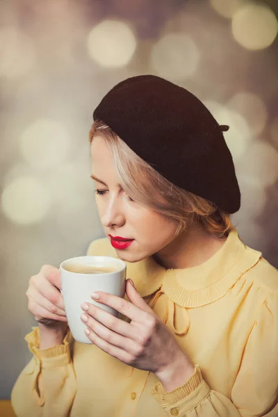
[[120,313],[124,314],[124,316],[128,318],[131,318],[131,320],[134,322],[143,323],[149,316],[148,311],[139,309],[131,302],[124,300],[124,298],[117,297],[117,295],[104,293],[102,291],[96,291],[96,293],[99,294],[99,299],[95,300],[91,296],[94,301],[101,302],[106,304],[106,306],[110,306],[113,309],[120,311]]

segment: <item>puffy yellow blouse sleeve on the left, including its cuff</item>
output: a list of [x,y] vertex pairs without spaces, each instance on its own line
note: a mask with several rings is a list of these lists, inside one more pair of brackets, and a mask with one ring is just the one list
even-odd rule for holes
[[17,378],[11,404],[17,417],[67,417],[76,395],[76,377],[70,352],[70,329],[62,345],[40,350],[40,329],[25,336],[33,353]]

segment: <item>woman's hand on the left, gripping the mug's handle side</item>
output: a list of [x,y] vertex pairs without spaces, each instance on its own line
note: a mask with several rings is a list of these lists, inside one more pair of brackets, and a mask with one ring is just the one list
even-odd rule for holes
[[60,270],[51,265],[43,265],[40,272],[29,279],[26,291],[28,311],[35,320],[49,329],[67,327],[65,304],[60,289]]

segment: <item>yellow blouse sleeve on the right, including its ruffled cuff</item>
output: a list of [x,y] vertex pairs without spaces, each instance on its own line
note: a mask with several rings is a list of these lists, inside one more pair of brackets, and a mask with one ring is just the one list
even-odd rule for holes
[[278,294],[261,306],[231,398],[210,389],[199,365],[183,386],[165,393],[158,382],[152,395],[168,417],[278,417]]

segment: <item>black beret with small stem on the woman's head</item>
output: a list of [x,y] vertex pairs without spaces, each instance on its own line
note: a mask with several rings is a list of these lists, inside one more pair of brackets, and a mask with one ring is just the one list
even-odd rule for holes
[[121,81],[93,113],[179,188],[235,213],[240,189],[220,126],[195,95],[159,76]]

